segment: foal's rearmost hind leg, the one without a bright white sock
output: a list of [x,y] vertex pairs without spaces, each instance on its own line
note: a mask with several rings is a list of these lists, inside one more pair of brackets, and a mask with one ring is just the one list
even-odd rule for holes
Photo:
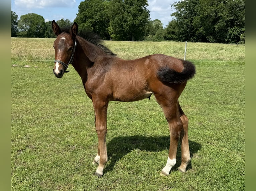
[[181,164],[179,166],[179,171],[181,172],[186,172],[186,167],[188,163],[190,162],[190,153],[189,153],[189,146],[188,146],[188,134],[187,134],[187,129],[188,129],[188,118],[182,111],[179,103],[179,112],[180,112],[180,119],[182,121],[182,129],[180,132],[180,143],[181,143]]

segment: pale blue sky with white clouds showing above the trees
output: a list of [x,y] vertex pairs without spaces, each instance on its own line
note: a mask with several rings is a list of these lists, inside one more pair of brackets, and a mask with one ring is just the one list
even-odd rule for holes
[[[28,13],[43,16],[45,21],[69,19],[77,16],[78,6],[84,0],[11,0],[11,9],[19,17]],[[151,20],[159,19],[163,27],[171,21],[171,4],[178,0],[148,0]]]

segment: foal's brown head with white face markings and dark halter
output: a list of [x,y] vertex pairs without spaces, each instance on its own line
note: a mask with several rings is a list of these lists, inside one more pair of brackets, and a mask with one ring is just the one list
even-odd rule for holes
[[69,72],[66,70],[74,59],[78,25],[75,22],[70,29],[63,31],[54,20],[51,25],[54,34],[57,36],[53,44],[55,50],[53,73],[57,78],[61,78],[65,72]]

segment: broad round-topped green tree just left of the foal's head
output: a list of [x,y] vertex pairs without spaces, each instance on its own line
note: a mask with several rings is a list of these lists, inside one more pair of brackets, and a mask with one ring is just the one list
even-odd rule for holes
[[44,38],[45,30],[46,24],[41,15],[28,13],[21,15],[18,20],[18,37]]

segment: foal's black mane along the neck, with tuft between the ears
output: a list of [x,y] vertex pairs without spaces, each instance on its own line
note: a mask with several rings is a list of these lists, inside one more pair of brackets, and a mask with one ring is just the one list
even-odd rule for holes
[[[70,27],[65,27],[61,30],[62,32],[70,33]],[[99,47],[106,53],[106,55],[116,56],[116,54],[114,54],[110,49],[106,47],[106,45],[104,45],[104,41],[100,38],[99,35],[93,32],[79,31],[78,36]]]

